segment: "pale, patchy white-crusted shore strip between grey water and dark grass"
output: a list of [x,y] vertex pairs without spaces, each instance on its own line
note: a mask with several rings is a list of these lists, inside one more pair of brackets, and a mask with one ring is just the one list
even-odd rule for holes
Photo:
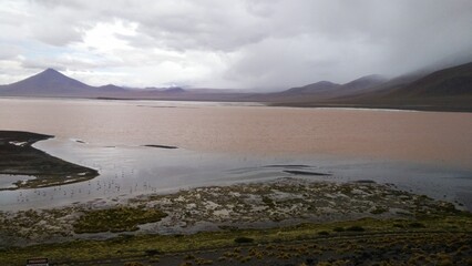
[[[106,215],[109,218],[103,217],[100,223],[81,221],[89,214],[91,217],[100,217],[99,213],[107,209],[129,209],[126,216],[131,217],[147,217],[148,212],[158,212],[158,216],[154,221],[129,222],[131,224],[122,227],[113,227],[117,221],[110,219],[113,217],[110,214]],[[95,198],[62,207],[0,211],[0,234],[7,241],[0,243],[0,246],[107,239],[122,233],[192,235],[199,232],[268,229],[361,218],[415,221],[421,216],[461,213],[469,212],[460,211],[451,203],[400,191],[392,185],[372,182],[340,184],[285,177],[122,200]]]

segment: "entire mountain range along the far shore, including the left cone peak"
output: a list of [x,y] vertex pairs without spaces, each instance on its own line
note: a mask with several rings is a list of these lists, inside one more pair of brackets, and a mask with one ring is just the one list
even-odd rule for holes
[[244,101],[285,106],[394,108],[472,112],[472,62],[393,79],[367,75],[345,84],[319,81],[280,92],[91,86],[53,69],[7,85],[0,96]]

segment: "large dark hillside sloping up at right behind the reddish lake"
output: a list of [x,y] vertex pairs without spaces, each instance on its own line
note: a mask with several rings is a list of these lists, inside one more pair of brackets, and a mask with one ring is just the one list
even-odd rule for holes
[[[374,76],[371,76],[374,78]],[[472,63],[432,73],[413,72],[391,80],[363,78],[336,88],[330,94],[274,102],[289,106],[361,106],[472,112]],[[349,93],[346,93],[349,92]]]

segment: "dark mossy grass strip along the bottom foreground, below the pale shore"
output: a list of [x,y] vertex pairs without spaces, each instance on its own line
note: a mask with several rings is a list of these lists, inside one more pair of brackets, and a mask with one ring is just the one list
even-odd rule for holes
[[[201,232],[193,235],[122,235],[106,241],[73,241],[62,244],[3,248],[0,250],[0,264],[21,265],[25,258],[48,257],[58,265],[74,265],[79,262],[123,265],[130,260],[145,265],[173,265],[177,262],[192,260],[192,265],[198,265],[193,257],[191,259],[186,257],[188,254],[201,253],[205,255],[199,256],[206,259],[205,262],[212,260],[216,265],[226,265],[226,263],[238,265],[250,260],[301,264],[306,259],[334,263],[342,260],[343,257],[348,257],[351,262],[368,258],[372,263],[391,263],[387,265],[394,265],[393,262],[407,264],[410,259],[418,262],[418,265],[421,265],[423,260],[451,262],[451,265],[458,265],[456,263],[464,263],[464,259],[470,258],[472,217],[469,213],[443,217],[432,216],[415,223],[421,223],[422,226],[412,225],[412,222],[407,219],[363,218],[268,229]],[[350,228],[362,228],[362,231]],[[326,234],[319,234],[320,232]],[[253,241],[247,244],[235,242],[240,237]],[[309,245],[314,244],[316,247],[310,248]],[[235,247],[243,247],[245,252],[228,253],[228,248]],[[267,252],[271,248],[275,250]],[[391,254],[388,255],[387,252]],[[156,259],[158,257],[161,259]],[[194,255],[194,257],[198,256]],[[274,258],[277,259],[274,260]],[[217,263],[217,259],[220,263]],[[243,262],[245,259],[247,262]],[[165,264],[166,260],[173,263]],[[223,264],[223,262],[226,263]]]

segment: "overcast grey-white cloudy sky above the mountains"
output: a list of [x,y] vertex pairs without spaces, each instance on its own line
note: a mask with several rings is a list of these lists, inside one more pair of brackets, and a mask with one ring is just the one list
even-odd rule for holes
[[0,84],[284,89],[472,53],[471,0],[0,0]]

